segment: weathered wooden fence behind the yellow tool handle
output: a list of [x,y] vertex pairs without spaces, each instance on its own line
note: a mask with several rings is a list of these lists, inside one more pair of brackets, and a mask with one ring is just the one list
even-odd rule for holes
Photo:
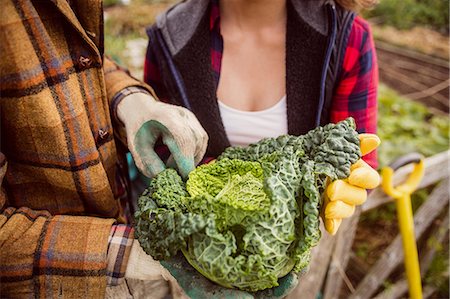
[[[425,159],[425,175],[419,188],[435,184],[437,186],[415,212],[414,224],[417,240],[429,230],[433,221],[448,209],[449,158],[450,151],[446,151]],[[394,175],[394,183],[398,184],[404,181],[412,167],[412,165],[407,165],[397,170]],[[353,217],[342,222],[336,236],[328,235],[321,227],[322,239],[319,245],[313,249],[311,269],[300,278],[299,285],[288,298],[316,299],[318,294],[321,294],[323,299],[339,298],[343,284],[350,290],[351,299],[394,299],[403,296],[408,291],[405,278],[401,278],[386,290],[382,288],[390,274],[403,264],[400,235],[395,237],[357,286],[353,286],[346,275],[360,214],[390,201],[392,199],[384,194],[381,187],[378,187],[370,194],[367,202],[356,210]],[[432,233],[433,238],[442,242],[448,234],[448,227],[447,215],[439,228]],[[421,254],[422,277],[428,270],[435,252],[435,248],[431,247],[426,248],[425,252]],[[379,291],[380,289],[381,291]],[[424,298],[428,298],[433,292],[434,289],[431,286],[424,285]]]

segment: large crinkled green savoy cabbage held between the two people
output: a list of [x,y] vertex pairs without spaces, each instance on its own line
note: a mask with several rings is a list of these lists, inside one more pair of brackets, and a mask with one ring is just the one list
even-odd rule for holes
[[186,183],[172,169],[153,179],[139,198],[136,234],[155,259],[181,250],[222,286],[277,286],[278,278],[309,264],[320,239],[326,178],[348,177],[360,156],[352,119],[230,147]]

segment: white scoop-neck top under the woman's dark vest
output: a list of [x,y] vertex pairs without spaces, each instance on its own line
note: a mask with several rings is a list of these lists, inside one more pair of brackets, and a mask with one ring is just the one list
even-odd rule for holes
[[272,107],[259,111],[242,111],[218,102],[232,146],[247,146],[262,138],[287,134],[286,96]]

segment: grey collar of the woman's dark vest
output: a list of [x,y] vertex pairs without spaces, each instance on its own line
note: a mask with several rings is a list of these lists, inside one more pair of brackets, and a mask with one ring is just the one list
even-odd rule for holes
[[[208,10],[211,0],[185,0],[158,16],[156,26],[161,30],[172,55],[176,55],[191,39]],[[297,15],[319,34],[328,34],[325,9],[330,0],[288,0]]]

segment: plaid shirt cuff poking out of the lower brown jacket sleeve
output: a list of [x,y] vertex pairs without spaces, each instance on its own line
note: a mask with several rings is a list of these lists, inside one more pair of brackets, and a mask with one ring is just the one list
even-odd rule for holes
[[124,224],[113,225],[108,238],[107,285],[124,282],[128,257],[134,240],[134,229]]

